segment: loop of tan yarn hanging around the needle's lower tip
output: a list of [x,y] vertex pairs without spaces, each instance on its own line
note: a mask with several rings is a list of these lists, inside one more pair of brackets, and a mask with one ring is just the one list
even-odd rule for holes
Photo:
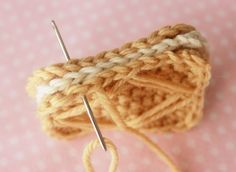
[[[119,155],[116,146],[108,138],[104,138],[104,141],[106,143],[107,150],[111,152],[111,163],[109,167],[109,172],[115,172],[119,162]],[[99,146],[99,141],[96,139],[92,140],[84,149],[83,163],[87,172],[94,172],[94,168],[91,163],[91,154]]]

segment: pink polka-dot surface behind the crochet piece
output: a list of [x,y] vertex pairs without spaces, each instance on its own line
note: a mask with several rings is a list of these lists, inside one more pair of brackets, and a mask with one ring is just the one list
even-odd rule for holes
[[[25,92],[33,69],[65,62],[51,28],[55,19],[73,57],[93,55],[179,22],[196,26],[209,40],[213,78],[205,116],[186,133],[149,134],[183,172],[236,171],[236,5],[233,0],[0,2],[0,171],[82,172],[84,146],[92,133],[57,141],[41,131],[36,104]],[[118,146],[122,172],[167,172],[142,142],[103,131]],[[93,156],[96,172],[107,171],[109,153]]]

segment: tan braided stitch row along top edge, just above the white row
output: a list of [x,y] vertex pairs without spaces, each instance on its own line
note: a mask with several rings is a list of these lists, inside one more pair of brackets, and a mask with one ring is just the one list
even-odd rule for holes
[[117,55],[124,56],[136,52],[137,49],[148,48],[153,44],[159,43],[163,39],[171,39],[179,34],[185,34],[193,30],[195,30],[195,28],[187,24],[165,26],[152,32],[148,37],[125,43],[120,46],[120,48],[102,51],[95,56],[88,56],[80,59],[71,59],[67,63],[58,63],[41,69],[37,69],[34,71],[33,76],[29,78],[26,90],[30,96],[35,97],[36,87],[39,84],[47,83],[52,79],[60,77],[63,73],[74,71],[75,68],[77,70],[91,64],[108,60]]

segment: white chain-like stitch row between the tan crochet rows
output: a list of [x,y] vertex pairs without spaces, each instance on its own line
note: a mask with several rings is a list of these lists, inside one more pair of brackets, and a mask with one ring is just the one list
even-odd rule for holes
[[144,55],[160,54],[166,50],[175,50],[178,47],[200,48],[206,45],[206,40],[197,31],[177,35],[173,39],[164,39],[160,43],[150,48],[139,49],[136,53],[127,54],[123,57],[117,56],[109,59],[107,62],[99,62],[95,66],[81,68],[78,72],[69,72],[62,78],[51,80],[47,85],[37,87],[36,99],[40,102],[46,95],[61,91],[69,84],[79,84],[89,75],[97,74],[105,69],[112,68],[115,65],[128,63],[130,60],[137,59]]

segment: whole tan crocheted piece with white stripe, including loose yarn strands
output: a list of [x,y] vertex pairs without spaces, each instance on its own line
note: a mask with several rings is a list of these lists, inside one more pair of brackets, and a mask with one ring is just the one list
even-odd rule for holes
[[[86,95],[101,128],[136,135],[172,171],[180,172],[144,132],[185,131],[202,117],[210,65],[205,44],[196,40],[194,31],[185,24],[167,26],[121,48],[36,70],[27,91],[33,97],[40,95],[38,114],[44,130],[58,138],[92,131],[80,97]],[[106,141],[114,171],[118,156]],[[94,141],[85,150],[87,171],[92,171],[89,156],[96,146]]]

